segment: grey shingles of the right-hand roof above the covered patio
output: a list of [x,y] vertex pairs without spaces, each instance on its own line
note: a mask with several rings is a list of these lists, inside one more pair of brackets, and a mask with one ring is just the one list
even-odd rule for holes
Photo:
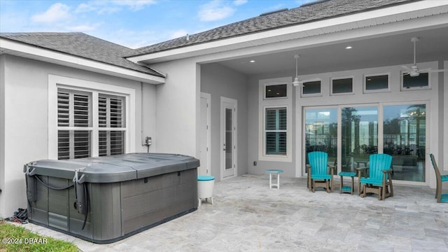
[[314,22],[326,18],[335,18],[342,15],[350,15],[376,8],[384,8],[409,1],[421,0],[330,0],[317,1],[315,4],[301,6],[290,10],[271,13],[268,15],[260,15],[255,18],[249,18],[241,22],[235,22],[230,25],[203,31],[198,34],[189,35],[181,38],[175,38],[170,41],[149,45],[134,50],[133,54],[128,56],[137,56],[171,50],[174,48],[182,48],[190,45],[207,43],[223,38],[234,36],[242,36],[269,29],[277,29],[291,25],[299,25],[306,22]]

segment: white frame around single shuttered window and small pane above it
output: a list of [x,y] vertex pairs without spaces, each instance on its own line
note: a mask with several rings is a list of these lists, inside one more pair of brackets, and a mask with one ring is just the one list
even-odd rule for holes
[[[292,162],[293,160],[293,78],[272,78],[259,80],[258,92],[258,160],[274,162]],[[287,97],[265,99],[266,85],[286,83]],[[266,155],[265,111],[269,108],[286,108],[286,155]]]

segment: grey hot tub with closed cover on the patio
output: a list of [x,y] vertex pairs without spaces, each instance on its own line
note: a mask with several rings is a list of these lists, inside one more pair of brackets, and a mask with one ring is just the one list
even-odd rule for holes
[[148,153],[30,162],[28,218],[87,241],[118,241],[195,211],[199,165]]

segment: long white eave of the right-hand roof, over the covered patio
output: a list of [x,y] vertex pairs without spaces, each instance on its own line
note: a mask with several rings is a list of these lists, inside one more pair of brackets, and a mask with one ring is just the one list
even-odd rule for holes
[[288,27],[280,27],[265,31],[258,31],[251,34],[222,38],[206,43],[151,52],[145,55],[127,57],[132,62],[144,62],[155,64],[175,59],[207,55],[216,52],[224,52],[239,48],[247,48],[254,45],[265,45],[279,41],[286,41],[295,38],[305,38],[318,36],[337,31],[346,31],[363,27],[384,25],[387,22],[398,22],[402,20],[421,18],[421,16],[437,15],[448,12],[448,2],[446,1],[412,1],[400,5],[376,8],[361,13],[337,16],[314,22],[300,23]]

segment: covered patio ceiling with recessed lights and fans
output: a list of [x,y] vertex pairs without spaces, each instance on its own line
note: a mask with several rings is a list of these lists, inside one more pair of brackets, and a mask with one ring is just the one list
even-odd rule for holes
[[[336,43],[313,48],[288,50],[253,57],[218,62],[241,73],[295,73],[294,55],[300,55],[299,75],[361,69],[374,66],[412,64],[414,44],[411,38],[418,36],[416,62],[448,59],[448,27],[369,38],[347,43]],[[346,46],[353,48],[346,50]],[[255,63],[249,61],[253,59]]]

